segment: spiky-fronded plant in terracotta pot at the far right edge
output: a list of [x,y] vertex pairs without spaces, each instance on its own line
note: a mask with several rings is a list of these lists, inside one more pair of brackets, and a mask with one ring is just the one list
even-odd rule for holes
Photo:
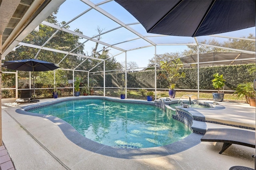
[[256,106],[255,90],[252,82],[240,83],[234,90],[233,94],[236,94],[238,97],[244,96],[250,106]]

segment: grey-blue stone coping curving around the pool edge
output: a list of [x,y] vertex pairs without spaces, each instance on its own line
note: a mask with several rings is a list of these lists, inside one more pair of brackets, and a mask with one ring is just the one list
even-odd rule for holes
[[[143,103],[143,104],[154,105],[154,101],[152,102],[152,101],[140,101],[140,100],[132,100],[132,99],[115,99],[111,97],[100,97],[100,96],[97,96],[97,97],[81,96],[81,97],[69,97],[67,99],[57,99],[55,101],[38,103],[36,105],[21,107],[20,109],[16,109],[16,113],[48,119],[52,121],[55,125],[57,125],[62,130],[66,138],[68,138],[68,140],[70,140],[77,146],[80,146],[85,150],[88,150],[97,154],[111,156],[114,158],[143,159],[143,158],[156,158],[161,156],[167,156],[167,155],[172,155],[172,154],[176,154],[178,152],[187,150],[193,146],[196,146],[201,142],[200,139],[202,137],[202,134],[191,133],[186,138],[165,146],[158,146],[158,147],[152,147],[152,148],[137,148],[137,149],[117,148],[113,146],[99,144],[97,142],[94,142],[93,140],[90,140],[82,136],[82,134],[78,133],[77,130],[75,130],[70,124],[66,123],[66,121],[58,117],[54,117],[50,115],[42,115],[38,113],[31,113],[26,111],[26,110],[29,110],[30,108],[42,107],[44,105],[52,105],[53,103],[58,103],[62,101],[74,100],[74,99],[78,100],[78,99],[84,99],[84,98],[110,99],[118,102]],[[205,124],[205,126],[203,127],[206,128],[206,123],[203,122],[203,124]]]

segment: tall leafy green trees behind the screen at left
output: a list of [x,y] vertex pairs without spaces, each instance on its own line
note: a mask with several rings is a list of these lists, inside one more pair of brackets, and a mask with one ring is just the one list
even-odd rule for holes
[[[58,13],[58,9],[52,13],[48,18],[46,18],[46,22],[50,22],[52,24],[56,24],[63,28],[70,28],[65,21],[58,23],[56,20],[56,14]],[[102,32],[103,29],[97,28],[98,34]],[[83,34],[78,28],[74,30],[79,34]],[[100,36],[95,37],[97,40],[100,40]],[[49,47],[53,49],[58,49],[62,51],[68,51],[72,53],[82,54],[88,56],[91,53],[90,57],[107,59],[105,61],[105,69],[113,70],[120,69],[121,64],[116,61],[114,57],[110,58],[109,49],[103,49],[101,53],[97,51],[98,43],[95,43],[95,47],[92,48],[91,52],[84,51],[84,44],[81,42],[82,38],[79,36],[69,34],[67,32],[63,32],[61,30],[56,30],[50,26],[46,26],[44,24],[39,25],[39,31],[32,31],[22,42],[34,44],[43,47]],[[46,43],[47,42],[47,43]],[[28,58],[36,58],[43,61],[52,62],[58,64],[60,68],[63,69],[77,69],[79,70],[90,70],[94,66],[98,65],[101,61],[88,59],[85,57],[79,57],[74,55],[66,55],[63,53],[57,53],[54,51],[48,51],[43,49],[36,49],[27,46],[20,46],[15,51],[10,52],[6,55],[6,60],[18,60],[18,59],[28,59]],[[110,58],[110,59],[108,59]],[[103,62],[100,63],[97,67],[95,67],[92,71],[103,71]],[[23,73],[23,72],[20,72]],[[57,85],[65,85],[68,83],[68,79],[72,79],[72,71],[56,71],[56,84]],[[83,79],[87,79],[86,72],[75,72],[75,76],[79,76]],[[36,72],[36,82],[37,83],[45,83],[53,85],[53,74],[52,72]],[[86,80],[85,80],[86,81]]]

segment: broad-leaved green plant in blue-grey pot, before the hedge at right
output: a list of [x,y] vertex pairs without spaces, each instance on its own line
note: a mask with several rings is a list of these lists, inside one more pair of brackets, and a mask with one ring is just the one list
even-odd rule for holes
[[212,79],[212,86],[215,89],[218,89],[218,92],[212,93],[212,98],[214,101],[223,101],[224,93],[220,91],[220,88],[224,87],[226,80],[223,78],[223,74],[219,75],[219,73],[215,73],[213,77],[214,79]]

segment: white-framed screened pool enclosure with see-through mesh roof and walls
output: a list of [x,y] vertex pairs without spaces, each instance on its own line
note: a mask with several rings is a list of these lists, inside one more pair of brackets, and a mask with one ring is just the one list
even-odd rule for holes
[[[9,29],[9,33],[2,36],[2,61],[34,58],[58,65],[58,70],[46,73],[52,75],[47,75],[51,77],[47,80],[48,86],[36,89],[69,89],[70,94],[74,94],[74,78],[80,77],[83,80],[81,87],[94,87],[105,96],[108,89],[120,88],[115,76],[124,75],[126,97],[129,89],[167,90],[167,87],[157,85],[160,68],[156,56],[186,51],[186,55],[180,57],[184,67],[197,68],[197,87],[182,90],[197,91],[199,95],[200,91],[207,91],[200,89],[200,68],[255,64],[255,27],[194,38],[166,36],[147,33],[130,13],[113,0],[58,0],[44,2],[42,8],[36,8],[34,3],[36,1],[30,4],[21,1],[18,4],[25,14],[34,10],[34,16],[16,32],[16,36],[12,36],[15,29],[6,27],[4,32]],[[227,42],[233,43],[230,45]],[[243,45],[236,45],[235,42],[242,42]],[[209,52],[210,49],[212,52]],[[149,62],[150,59],[154,62]],[[137,63],[136,67],[128,65],[131,62]],[[113,63],[117,66],[112,67]],[[148,71],[153,72],[152,76],[143,80],[151,82],[148,86],[147,83],[144,87],[131,85],[127,81],[128,74]],[[62,77],[56,77],[57,72],[62,72]],[[2,90],[14,94],[11,98],[18,98],[21,89],[32,89],[31,73],[5,69],[3,73],[15,75],[11,85],[2,82]],[[111,79],[106,77],[110,74]],[[95,78],[95,75],[102,78]],[[35,80],[44,79],[44,76],[36,76]],[[65,79],[66,83],[58,83],[60,79]],[[111,86],[106,81],[111,81]]]

